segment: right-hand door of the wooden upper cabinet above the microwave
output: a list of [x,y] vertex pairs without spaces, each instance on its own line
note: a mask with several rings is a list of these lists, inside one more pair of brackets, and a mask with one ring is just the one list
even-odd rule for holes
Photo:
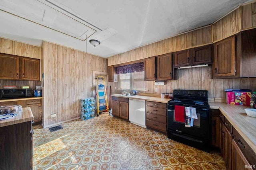
[[22,80],[40,80],[40,60],[22,57]]

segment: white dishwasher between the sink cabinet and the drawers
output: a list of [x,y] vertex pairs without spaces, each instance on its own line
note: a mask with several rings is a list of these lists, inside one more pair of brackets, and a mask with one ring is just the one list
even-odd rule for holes
[[129,99],[129,121],[135,125],[146,127],[146,101]]

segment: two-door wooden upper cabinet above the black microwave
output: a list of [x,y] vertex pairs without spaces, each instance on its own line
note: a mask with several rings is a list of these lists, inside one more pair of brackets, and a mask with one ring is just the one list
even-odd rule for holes
[[0,53],[0,79],[40,80],[40,60]]

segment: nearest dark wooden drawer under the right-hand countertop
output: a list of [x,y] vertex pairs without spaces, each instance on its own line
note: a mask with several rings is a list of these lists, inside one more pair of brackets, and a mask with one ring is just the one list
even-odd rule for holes
[[251,149],[251,147],[246,143],[246,141],[242,138],[242,136],[236,131],[233,127],[234,141],[237,143],[238,147],[247,158],[250,164],[255,164],[256,162],[256,153]]

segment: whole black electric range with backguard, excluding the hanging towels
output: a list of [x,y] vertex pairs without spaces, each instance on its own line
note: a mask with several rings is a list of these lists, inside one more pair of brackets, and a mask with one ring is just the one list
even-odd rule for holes
[[[193,127],[185,127],[184,122],[176,121],[176,106],[196,108],[198,119],[194,119]],[[167,119],[167,135],[169,139],[209,152],[210,106],[208,104],[208,91],[174,90],[174,98],[168,102]]]

